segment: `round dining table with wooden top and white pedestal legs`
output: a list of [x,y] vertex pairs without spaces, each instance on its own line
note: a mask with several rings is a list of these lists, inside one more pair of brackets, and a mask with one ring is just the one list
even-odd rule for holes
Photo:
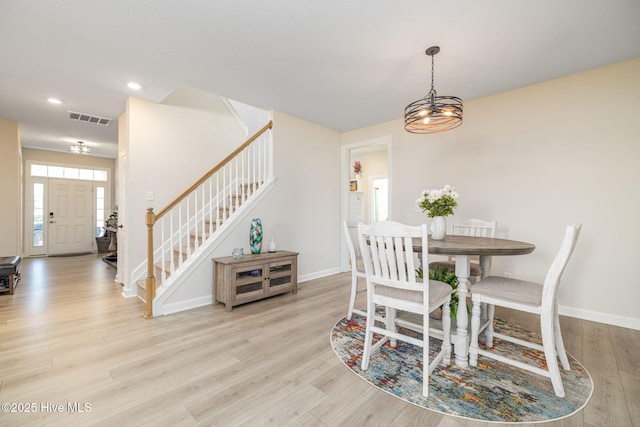
[[[429,237],[429,253],[437,255],[453,255],[456,258],[456,276],[459,301],[466,301],[469,295],[469,271],[472,256],[480,256],[482,277],[486,277],[492,256],[526,255],[535,250],[535,245],[517,240],[496,239],[493,237],[447,235],[444,240],[433,240]],[[414,239],[413,250],[421,252],[420,239]],[[427,263],[425,263],[427,264]],[[424,264],[423,264],[424,265]],[[458,310],[454,343],[455,362],[459,367],[469,365],[469,315],[467,310]]]

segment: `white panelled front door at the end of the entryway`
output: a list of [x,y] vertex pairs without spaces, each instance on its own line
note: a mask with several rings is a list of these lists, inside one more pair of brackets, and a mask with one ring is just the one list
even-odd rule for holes
[[92,196],[91,181],[49,179],[49,255],[93,250]]

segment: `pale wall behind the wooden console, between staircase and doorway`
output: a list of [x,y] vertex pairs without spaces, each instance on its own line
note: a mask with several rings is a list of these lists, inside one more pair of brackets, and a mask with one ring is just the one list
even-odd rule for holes
[[[275,111],[275,188],[238,225],[216,256],[236,247],[249,253],[249,227],[260,218],[263,247],[299,252],[301,280],[338,272],[340,247],[340,134]],[[210,277],[210,276],[209,276]]]

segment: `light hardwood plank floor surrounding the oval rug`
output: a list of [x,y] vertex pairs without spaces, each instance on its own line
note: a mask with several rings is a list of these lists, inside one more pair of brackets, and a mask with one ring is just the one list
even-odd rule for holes
[[[24,259],[22,272],[15,295],[0,296],[0,402],[35,412],[0,412],[2,426],[489,425],[407,404],[338,361],[329,331],[347,311],[348,274],[231,313],[215,305],[145,320],[97,255]],[[533,317],[497,315],[537,328]],[[580,413],[544,425],[639,426],[640,331],[561,322],[595,392]]]

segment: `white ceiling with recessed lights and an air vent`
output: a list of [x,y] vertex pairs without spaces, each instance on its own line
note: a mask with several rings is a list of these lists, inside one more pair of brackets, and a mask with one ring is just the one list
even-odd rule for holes
[[117,119],[189,85],[348,131],[428,92],[432,45],[436,90],[465,101],[640,57],[640,1],[0,0],[0,40],[23,147],[115,157],[116,121],[67,111]]

